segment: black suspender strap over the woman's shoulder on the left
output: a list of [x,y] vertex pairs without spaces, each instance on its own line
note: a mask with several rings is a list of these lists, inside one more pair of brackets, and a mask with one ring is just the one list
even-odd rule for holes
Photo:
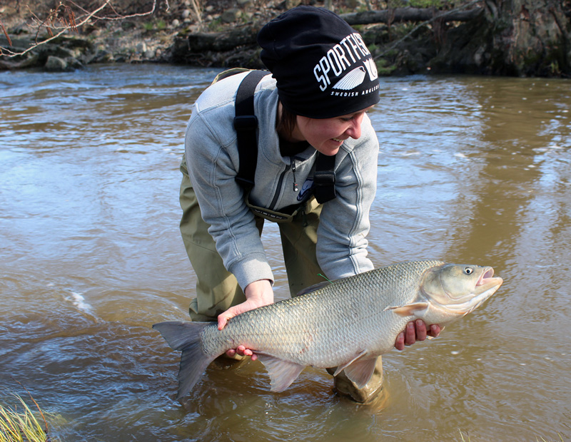
[[254,91],[267,71],[251,71],[243,78],[236,92],[236,116],[234,117],[234,129],[238,138],[238,155],[240,168],[236,175],[239,185],[251,190],[256,175],[258,163],[258,118],[254,114]]

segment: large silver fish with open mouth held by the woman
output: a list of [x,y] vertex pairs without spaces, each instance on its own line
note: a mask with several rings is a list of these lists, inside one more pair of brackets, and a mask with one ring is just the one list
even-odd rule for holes
[[338,367],[358,386],[373,375],[375,360],[393,349],[408,322],[450,324],[478,307],[502,284],[492,267],[403,262],[325,282],[308,293],[215,322],[154,324],[181,350],[178,398],[185,396],[216,357],[239,344],[252,349],[283,391],[305,366]]

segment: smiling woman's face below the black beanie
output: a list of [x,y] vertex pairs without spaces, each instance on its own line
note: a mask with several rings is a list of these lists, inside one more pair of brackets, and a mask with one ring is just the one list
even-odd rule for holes
[[297,141],[307,141],[323,155],[335,155],[348,138],[355,140],[361,136],[361,123],[365,113],[373,106],[348,115],[335,118],[315,119],[297,116],[291,134]]

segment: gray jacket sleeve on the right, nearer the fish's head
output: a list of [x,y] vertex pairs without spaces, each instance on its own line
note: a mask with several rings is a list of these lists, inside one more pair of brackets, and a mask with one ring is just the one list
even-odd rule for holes
[[[370,207],[377,190],[379,145],[366,117],[353,149],[335,165],[337,197],[325,202],[318,227],[317,258],[329,279],[373,269],[367,257]],[[342,147],[343,149],[343,147]]]

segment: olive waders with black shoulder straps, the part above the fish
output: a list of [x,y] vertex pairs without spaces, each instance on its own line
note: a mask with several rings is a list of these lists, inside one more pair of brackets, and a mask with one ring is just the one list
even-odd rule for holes
[[[213,83],[222,78],[248,69],[235,68],[219,73]],[[248,195],[254,186],[254,174],[258,157],[256,128],[258,118],[254,115],[253,93],[267,71],[250,71],[236,93],[236,118],[234,128],[238,137],[240,170],[236,183],[244,190],[245,203],[256,218],[256,227],[262,232],[264,220],[277,222],[280,229],[283,258],[288,275],[291,296],[305,287],[323,282],[322,270],[315,256],[317,227],[321,204],[335,197],[335,157],[318,155],[315,165],[313,196],[288,212],[276,212],[252,205]],[[189,313],[193,321],[216,321],[218,314],[236,304],[246,301],[236,277],[228,272],[223,259],[216,250],[216,242],[208,233],[210,227],[201,216],[200,207],[186,168],[183,155],[180,202],[183,210],[181,235],[188,258],[196,273],[196,298],[192,300]]]

